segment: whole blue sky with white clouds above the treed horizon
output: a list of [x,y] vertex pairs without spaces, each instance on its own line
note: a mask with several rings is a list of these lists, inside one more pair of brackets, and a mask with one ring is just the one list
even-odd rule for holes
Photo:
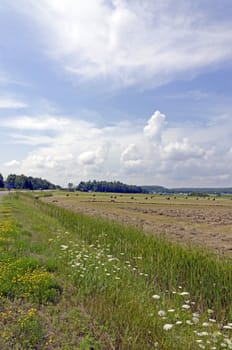
[[232,186],[231,0],[0,0],[0,173]]

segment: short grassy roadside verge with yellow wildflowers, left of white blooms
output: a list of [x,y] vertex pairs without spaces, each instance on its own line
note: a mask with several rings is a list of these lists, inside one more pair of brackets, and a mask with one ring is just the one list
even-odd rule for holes
[[0,203],[0,349],[107,349],[50,261],[45,232],[26,230],[30,211],[21,217],[22,207],[9,199]]

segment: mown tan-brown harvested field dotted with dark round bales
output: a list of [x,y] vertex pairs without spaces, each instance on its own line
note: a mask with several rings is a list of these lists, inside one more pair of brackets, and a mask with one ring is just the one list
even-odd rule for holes
[[44,200],[75,212],[135,225],[145,233],[165,235],[181,244],[206,247],[232,257],[230,197],[57,193]]

